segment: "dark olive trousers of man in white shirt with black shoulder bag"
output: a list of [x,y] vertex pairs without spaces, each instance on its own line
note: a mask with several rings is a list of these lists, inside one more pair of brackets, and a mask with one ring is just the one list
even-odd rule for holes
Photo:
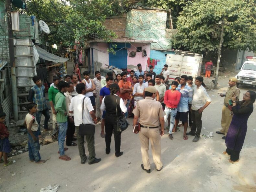
[[78,145],[78,151],[81,158],[81,162],[86,161],[86,154],[85,154],[85,146],[84,146],[84,138],[86,138],[87,141],[87,149],[89,152],[89,162],[94,161],[95,159],[95,148],[94,148],[94,136],[81,136],[79,133],[79,126],[76,126],[76,134],[77,134],[77,145]]

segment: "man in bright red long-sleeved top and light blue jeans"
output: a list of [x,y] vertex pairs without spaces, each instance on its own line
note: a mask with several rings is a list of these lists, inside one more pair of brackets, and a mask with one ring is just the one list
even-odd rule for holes
[[166,122],[169,115],[171,116],[170,118],[170,127],[169,127],[169,139],[173,139],[172,136],[172,129],[175,123],[175,117],[177,114],[177,106],[180,102],[180,96],[181,93],[176,90],[178,87],[179,83],[176,81],[173,81],[171,83],[171,88],[165,92],[164,96],[164,103],[165,103],[165,116],[164,116],[164,121]]

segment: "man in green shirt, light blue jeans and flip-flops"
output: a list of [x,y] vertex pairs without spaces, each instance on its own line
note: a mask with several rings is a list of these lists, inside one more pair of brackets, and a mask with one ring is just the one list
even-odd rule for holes
[[56,119],[59,128],[58,145],[60,157],[64,161],[70,161],[71,158],[65,155],[64,141],[67,133],[67,107],[64,93],[67,92],[68,83],[60,81],[58,85],[59,92],[55,96],[55,110],[57,111]]

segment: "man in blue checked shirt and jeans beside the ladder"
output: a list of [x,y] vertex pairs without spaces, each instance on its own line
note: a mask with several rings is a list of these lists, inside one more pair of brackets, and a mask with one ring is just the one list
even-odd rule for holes
[[29,90],[28,100],[30,103],[37,104],[36,121],[38,122],[38,135],[39,138],[43,139],[40,130],[41,116],[42,114],[44,115],[44,130],[47,131],[50,113],[46,105],[44,86],[42,85],[40,77],[34,76],[32,80],[36,85]]

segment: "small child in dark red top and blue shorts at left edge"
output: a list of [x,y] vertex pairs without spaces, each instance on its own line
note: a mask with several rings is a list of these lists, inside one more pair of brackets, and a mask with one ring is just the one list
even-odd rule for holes
[[[12,164],[12,161],[7,160],[7,153],[11,152],[11,145],[8,139],[9,132],[4,124],[6,114],[0,111],[0,163],[4,162],[4,166]],[[2,160],[4,156],[4,161]]]

